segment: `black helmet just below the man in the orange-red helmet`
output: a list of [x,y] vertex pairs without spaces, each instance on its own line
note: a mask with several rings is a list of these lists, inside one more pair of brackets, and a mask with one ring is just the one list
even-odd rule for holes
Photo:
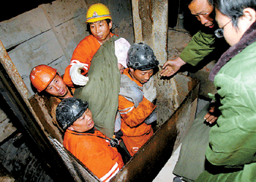
[[88,108],[88,102],[70,97],[63,99],[56,107],[56,120],[62,129],[71,126]]

